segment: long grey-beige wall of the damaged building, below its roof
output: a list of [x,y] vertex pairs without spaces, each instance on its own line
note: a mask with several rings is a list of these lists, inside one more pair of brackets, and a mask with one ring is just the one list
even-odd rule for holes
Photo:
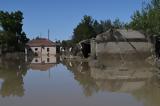
[[148,42],[107,42],[97,43],[96,53],[135,53],[135,52],[151,52],[152,45]]

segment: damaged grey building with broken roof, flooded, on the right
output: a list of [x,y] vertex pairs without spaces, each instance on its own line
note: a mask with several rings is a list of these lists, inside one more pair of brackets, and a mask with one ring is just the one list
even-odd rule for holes
[[139,31],[110,29],[91,41],[91,55],[151,53],[152,45]]

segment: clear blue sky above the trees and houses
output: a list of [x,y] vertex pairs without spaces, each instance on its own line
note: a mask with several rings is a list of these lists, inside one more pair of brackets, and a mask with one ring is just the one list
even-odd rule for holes
[[66,40],[84,15],[97,20],[119,18],[129,22],[131,15],[142,8],[144,0],[0,0],[0,10],[23,12],[23,30],[27,37]]

